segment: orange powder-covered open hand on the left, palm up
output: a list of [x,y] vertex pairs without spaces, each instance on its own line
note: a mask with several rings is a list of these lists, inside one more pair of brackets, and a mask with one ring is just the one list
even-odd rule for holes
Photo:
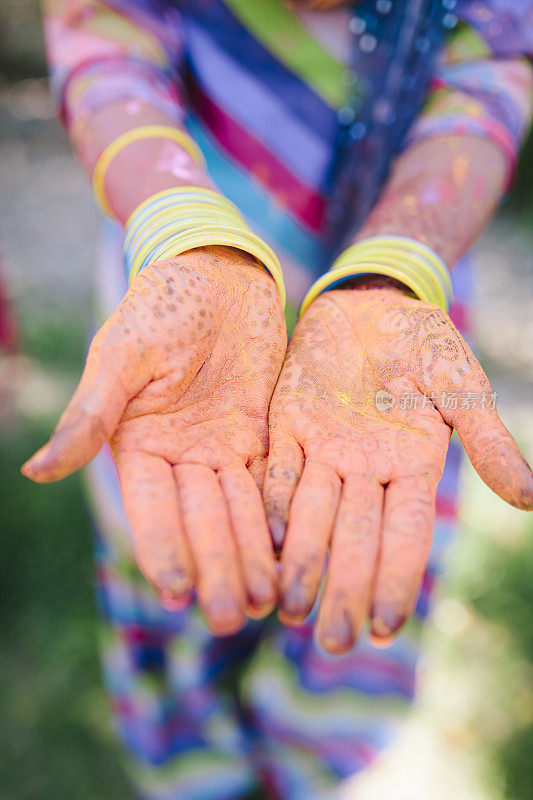
[[205,247],[147,267],[96,334],[51,439],[22,468],[59,480],[110,442],[138,565],[165,604],[192,588],[214,633],[276,602],[259,491],[286,348],[273,279]]

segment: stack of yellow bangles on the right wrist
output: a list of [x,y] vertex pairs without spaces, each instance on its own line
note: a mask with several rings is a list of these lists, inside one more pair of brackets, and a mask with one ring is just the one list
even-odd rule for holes
[[326,289],[359,275],[386,275],[403,283],[419,300],[447,311],[452,297],[450,273],[428,245],[407,236],[371,236],[348,247],[308,291],[300,316]]

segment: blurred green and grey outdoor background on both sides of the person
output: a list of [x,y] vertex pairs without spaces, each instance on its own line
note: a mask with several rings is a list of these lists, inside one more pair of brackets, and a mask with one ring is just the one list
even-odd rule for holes
[[[0,396],[0,800],[128,800],[100,686],[81,478],[41,487],[18,473],[46,439],[80,372],[97,219],[53,121],[45,75],[37,2],[2,0],[0,250],[4,239],[23,355],[0,365],[0,381],[15,387]],[[40,227],[32,230],[37,218]],[[499,232],[511,240],[502,258],[513,255],[514,239],[524,240],[505,280],[526,305],[533,260],[524,264],[523,253],[531,253],[532,222],[530,139],[497,235],[485,248],[490,277],[502,268],[489,258]],[[27,277],[25,265],[35,262]],[[487,294],[494,295],[499,277],[490,280]],[[504,418],[531,455],[531,339],[518,327],[507,350],[498,349],[502,336],[493,329],[502,313],[510,320],[509,306],[485,305],[481,352],[491,374],[518,398]],[[522,356],[513,342],[524,348]],[[505,507],[469,467],[465,484],[463,529],[428,635],[418,711],[396,767],[393,755],[374,783],[350,797],[533,798],[533,521]]]

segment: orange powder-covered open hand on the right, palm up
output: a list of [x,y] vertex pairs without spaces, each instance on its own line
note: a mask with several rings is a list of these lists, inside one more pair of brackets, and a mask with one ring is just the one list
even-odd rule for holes
[[401,627],[429,555],[452,428],[491,489],[533,508],[531,470],[447,314],[394,288],[314,301],[270,407],[264,499],[283,542],[284,622],[311,610],[329,549],[320,645],[347,651],[368,616],[374,641]]

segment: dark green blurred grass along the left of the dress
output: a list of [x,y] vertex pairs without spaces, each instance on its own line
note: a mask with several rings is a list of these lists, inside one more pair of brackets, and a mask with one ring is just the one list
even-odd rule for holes
[[[34,367],[72,383],[83,329],[22,320]],[[91,526],[79,475],[49,486],[19,473],[55,420],[19,416],[0,432],[0,798],[127,800],[97,655]]]

